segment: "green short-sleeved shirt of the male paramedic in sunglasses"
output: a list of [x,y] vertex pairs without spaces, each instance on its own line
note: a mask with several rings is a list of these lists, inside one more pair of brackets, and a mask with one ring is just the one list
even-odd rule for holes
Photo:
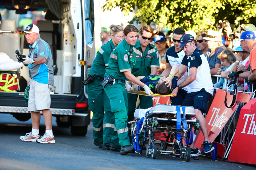
[[[152,45],[152,44],[151,44]],[[133,66],[132,74],[134,76],[149,76],[151,67],[159,67],[159,52],[155,45],[153,49],[147,46],[144,55],[141,49],[140,40],[133,46],[134,55],[136,56],[136,64]]]

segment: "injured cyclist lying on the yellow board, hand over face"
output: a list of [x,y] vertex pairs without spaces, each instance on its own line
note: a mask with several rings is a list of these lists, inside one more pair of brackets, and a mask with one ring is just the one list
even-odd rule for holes
[[[170,71],[169,77],[167,78],[165,76],[162,77],[160,75],[149,75],[146,77],[138,76],[136,78],[139,79],[144,84],[146,84],[154,94],[168,95],[171,93],[171,91],[174,88],[177,87],[178,72],[179,72],[179,67],[177,64],[175,64]],[[169,83],[171,86],[169,86]],[[135,83],[132,83],[132,84],[133,86],[131,86],[129,81],[126,82],[127,91],[134,91],[134,92],[144,91],[143,87],[140,87]]]

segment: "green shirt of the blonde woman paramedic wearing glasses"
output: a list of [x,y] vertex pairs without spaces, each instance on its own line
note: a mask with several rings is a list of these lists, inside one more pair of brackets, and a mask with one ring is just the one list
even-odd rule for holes
[[115,45],[113,44],[112,39],[110,39],[106,44],[99,48],[97,55],[93,60],[93,65],[89,72],[90,75],[97,77],[102,77],[104,75],[105,69],[108,67],[109,56],[114,51],[114,49]]

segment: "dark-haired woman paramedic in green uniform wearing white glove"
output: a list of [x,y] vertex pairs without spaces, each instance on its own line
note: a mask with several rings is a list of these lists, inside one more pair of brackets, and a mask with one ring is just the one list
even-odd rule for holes
[[[126,155],[133,152],[133,146],[130,145],[127,127],[127,91],[125,84],[127,79],[143,87],[145,92],[150,95],[151,90],[144,83],[136,79],[131,73],[134,64],[136,65],[132,46],[137,40],[139,30],[134,25],[127,25],[123,30],[124,40],[112,52],[108,60],[108,67],[104,77],[112,76],[113,83],[109,83],[105,92],[110,99],[111,111],[115,116],[115,128],[117,133],[113,132],[112,139],[119,138],[119,143],[112,140],[113,145],[120,148],[120,154]],[[128,89],[131,87],[127,87]],[[112,146],[111,146],[112,148]]]

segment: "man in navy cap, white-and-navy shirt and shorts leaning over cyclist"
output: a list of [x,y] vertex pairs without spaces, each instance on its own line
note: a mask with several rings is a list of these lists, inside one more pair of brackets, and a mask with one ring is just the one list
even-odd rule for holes
[[[193,36],[190,34],[183,35],[180,39],[180,43],[180,47],[184,50],[186,55],[190,56],[188,61],[188,77],[173,90],[172,94],[175,96],[181,88],[186,86],[190,87],[181,106],[194,106],[195,117],[199,120],[204,136],[204,148],[202,153],[209,153],[214,147],[209,141],[207,123],[202,113],[207,113],[208,101],[213,96],[213,82],[211,81],[210,67],[204,54],[196,48]],[[191,156],[199,155],[194,142],[190,145],[190,148]]]

